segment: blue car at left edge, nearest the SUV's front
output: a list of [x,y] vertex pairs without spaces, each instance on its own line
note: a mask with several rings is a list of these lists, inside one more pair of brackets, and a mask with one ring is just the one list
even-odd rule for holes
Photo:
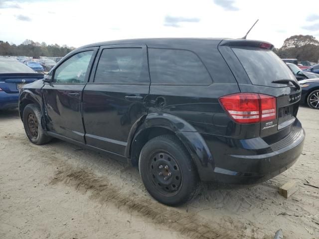
[[19,90],[44,77],[31,68],[8,58],[0,58],[0,110],[18,107]]

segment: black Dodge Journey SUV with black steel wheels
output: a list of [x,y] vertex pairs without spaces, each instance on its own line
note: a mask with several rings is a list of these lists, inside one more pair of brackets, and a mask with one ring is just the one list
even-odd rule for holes
[[80,47],[20,92],[32,143],[51,137],[139,167],[177,205],[200,182],[254,184],[303,150],[301,90],[267,42],[132,39]]

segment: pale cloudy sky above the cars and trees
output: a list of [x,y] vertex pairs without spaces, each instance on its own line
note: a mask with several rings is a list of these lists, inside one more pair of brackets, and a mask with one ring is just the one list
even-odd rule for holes
[[0,40],[79,47],[144,37],[319,40],[319,0],[0,0]]

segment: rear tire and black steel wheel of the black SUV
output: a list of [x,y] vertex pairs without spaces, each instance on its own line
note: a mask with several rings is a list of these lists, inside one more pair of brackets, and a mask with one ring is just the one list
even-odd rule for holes
[[162,204],[183,204],[201,189],[196,167],[175,135],[148,141],[140,154],[139,170],[147,191]]

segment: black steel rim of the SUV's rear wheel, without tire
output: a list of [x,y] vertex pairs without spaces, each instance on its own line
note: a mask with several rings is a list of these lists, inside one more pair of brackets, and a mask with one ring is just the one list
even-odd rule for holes
[[157,190],[166,196],[175,195],[182,182],[182,173],[174,157],[158,151],[150,159],[151,181]]

